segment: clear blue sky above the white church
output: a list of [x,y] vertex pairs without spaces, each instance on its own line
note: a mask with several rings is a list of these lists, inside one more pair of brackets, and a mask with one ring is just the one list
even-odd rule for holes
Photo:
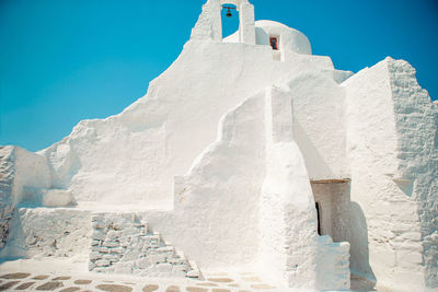
[[[0,144],[41,150],[81,119],[122,112],[175,60],[204,2],[0,0]],[[410,61],[438,98],[438,0],[251,2],[337,69]]]

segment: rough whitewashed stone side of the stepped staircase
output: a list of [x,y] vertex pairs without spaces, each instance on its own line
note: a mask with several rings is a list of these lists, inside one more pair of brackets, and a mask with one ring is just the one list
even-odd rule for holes
[[90,271],[200,278],[196,264],[150,231],[136,213],[93,213],[91,220]]

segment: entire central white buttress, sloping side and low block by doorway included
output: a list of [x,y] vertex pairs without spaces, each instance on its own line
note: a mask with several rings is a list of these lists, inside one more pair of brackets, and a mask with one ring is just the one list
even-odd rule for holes
[[[175,178],[175,210],[146,220],[201,270],[258,264],[286,287],[346,289],[348,248],[318,242],[290,96],[269,89],[230,110],[218,140]],[[318,276],[326,269],[336,275],[331,281]]]

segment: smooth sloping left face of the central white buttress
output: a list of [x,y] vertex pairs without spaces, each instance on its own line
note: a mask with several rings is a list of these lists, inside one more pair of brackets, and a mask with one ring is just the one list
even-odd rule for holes
[[203,269],[255,261],[264,177],[264,92],[231,109],[219,137],[177,179],[175,210],[146,220]]

